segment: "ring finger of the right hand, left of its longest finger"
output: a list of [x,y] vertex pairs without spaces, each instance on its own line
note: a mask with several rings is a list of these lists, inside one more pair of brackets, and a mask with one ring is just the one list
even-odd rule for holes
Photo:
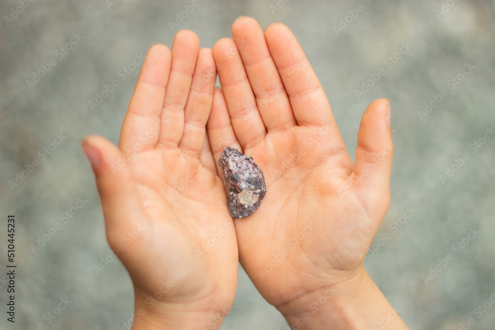
[[[244,64],[232,39],[221,39],[213,47],[218,78],[236,136],[245,148],[266,135],[265,125],[247,80]],[[210,140],[210,142],[213,142]]]

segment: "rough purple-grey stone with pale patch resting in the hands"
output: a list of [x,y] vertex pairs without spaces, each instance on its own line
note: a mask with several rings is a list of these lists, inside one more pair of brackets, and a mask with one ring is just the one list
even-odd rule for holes
[[266,193],[265,178],[252,157],[235,148],[225,147],[218,160],[227,183],[228,206],[233,218],[246,218],[256,209]]

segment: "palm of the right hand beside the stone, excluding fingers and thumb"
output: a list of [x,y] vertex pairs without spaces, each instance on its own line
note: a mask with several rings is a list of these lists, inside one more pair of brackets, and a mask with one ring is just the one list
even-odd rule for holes
[[[326,141],[304,145],[303,136],[318,132],[295,127],[245,150],[266,169],[270,193],[249,221],[236,221],[240,260],[274,305],[291,298],[281,299],[281,294],[314,289],[311,280],[355,270],[369,244],[370,231],[363,227],[368,215],[353,196],[341,199],[338,194],[352,172],[350,157]],[[273,145],[277,147],[270,150]],[[364,222],[342,221],[347,219]]]

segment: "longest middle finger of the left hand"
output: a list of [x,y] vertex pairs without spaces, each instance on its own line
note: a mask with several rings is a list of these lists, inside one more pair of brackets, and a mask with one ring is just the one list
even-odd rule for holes
[[187,30],[175,34],[172,64],[161,111],[157,146],[177,147],[184,131],[184,107],[193,80],[199,51],[198,36]]

